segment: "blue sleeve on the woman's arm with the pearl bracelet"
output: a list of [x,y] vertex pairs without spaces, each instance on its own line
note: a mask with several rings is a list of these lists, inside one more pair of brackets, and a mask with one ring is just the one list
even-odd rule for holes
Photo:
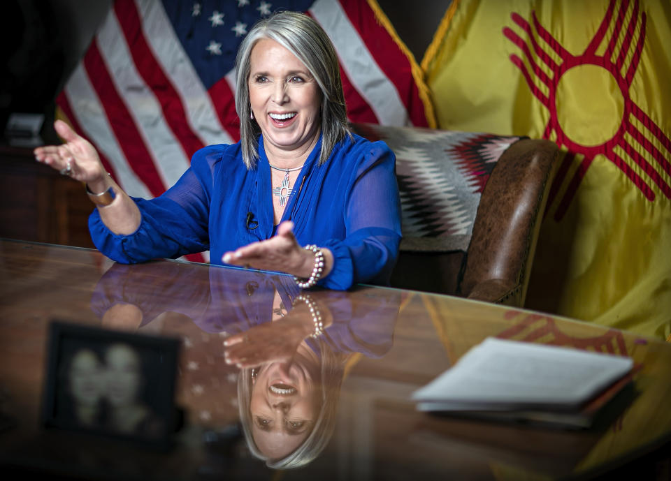
[[388,285],[401,242],[401,201],[396,158],[384,142],[373,142],[356,165],[345,202],[346,237],[322,245],[333,253],[333,269],[319,282],[345,290],[354,283]]

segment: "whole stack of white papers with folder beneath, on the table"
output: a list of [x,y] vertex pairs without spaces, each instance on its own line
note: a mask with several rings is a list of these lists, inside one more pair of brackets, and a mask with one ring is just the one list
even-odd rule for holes
[[412,399],[419,410],[589,427],[632,369],[629,357],[490,337]]

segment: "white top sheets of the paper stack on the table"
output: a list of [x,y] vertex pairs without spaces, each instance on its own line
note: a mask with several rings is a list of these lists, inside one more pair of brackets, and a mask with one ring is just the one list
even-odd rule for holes
[[415,391],[415,401],[574,406],[633,367],[629,357],[488,338]]

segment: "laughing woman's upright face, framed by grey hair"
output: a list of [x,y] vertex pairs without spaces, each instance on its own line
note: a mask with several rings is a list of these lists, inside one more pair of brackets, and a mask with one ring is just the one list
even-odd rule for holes
[[322,92],[303,62],[262,38],[250,55],[250,105],[266,154],[305,160],[319,139]]

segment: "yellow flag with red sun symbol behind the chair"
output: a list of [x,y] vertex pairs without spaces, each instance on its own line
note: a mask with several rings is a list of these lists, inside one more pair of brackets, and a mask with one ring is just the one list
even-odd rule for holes
[[556,142],[526,306],[670,339],[671,2],[454,0],[440,128]]

